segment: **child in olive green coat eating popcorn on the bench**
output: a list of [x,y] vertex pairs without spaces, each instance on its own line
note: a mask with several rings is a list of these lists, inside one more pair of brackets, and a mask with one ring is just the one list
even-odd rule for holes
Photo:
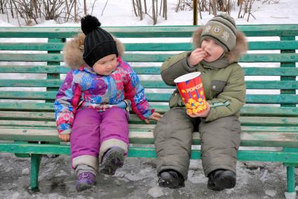
[[163,81],[189,72],[201,72],[207,110],[187,113],[179,92],[170,98],[170,110],[154,129],[159,186],[184,186],[189,169],[192,133],[201,135],[201,158],[208,188],[222,191],[236,185],[236,154],[240,144],[239,111],[245,104],[245,81],[238,59],[247,49],[245,35],[235,20],[216,15],[193,35],[196,49],[165,60]]

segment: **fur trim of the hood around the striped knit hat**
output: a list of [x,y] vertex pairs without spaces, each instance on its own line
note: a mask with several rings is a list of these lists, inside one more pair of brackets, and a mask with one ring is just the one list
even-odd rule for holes
[[[192,36],[194,48],[201,48],[201,36],[203,27],[199,27]],[[229,63],[238,62],[239,58],[243,53],[248,50],[248,42],[246,41],[245,34],[238,31],[236,33],[236,46],[231,51],[226,52],[226,59]]]

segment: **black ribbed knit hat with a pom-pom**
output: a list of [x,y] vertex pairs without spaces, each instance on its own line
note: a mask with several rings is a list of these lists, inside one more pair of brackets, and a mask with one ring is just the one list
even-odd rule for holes
[[118,50],[116,41],[109,32],[100,27],[101,23],[91,15],[86,15],[81,19],[81,29],[86,35],[84,41],[83,60],[90,66],[105,56],[116,54]]

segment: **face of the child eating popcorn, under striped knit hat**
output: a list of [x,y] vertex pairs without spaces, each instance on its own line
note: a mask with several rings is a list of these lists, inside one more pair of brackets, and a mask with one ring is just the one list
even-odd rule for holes
[[213,62],[222,56],[224,49],[219,44],[215,43],[212,39],[204,39],[201,44],[201,49],[207,53],[204,60]]

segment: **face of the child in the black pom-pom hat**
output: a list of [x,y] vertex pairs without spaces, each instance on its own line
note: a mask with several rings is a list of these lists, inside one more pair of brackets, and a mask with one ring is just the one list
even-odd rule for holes
[[116,54],[111,54],[109,56],[105,56],[93,65],[93,70],[98,75],[110,75],[117,67],[117,57]]

